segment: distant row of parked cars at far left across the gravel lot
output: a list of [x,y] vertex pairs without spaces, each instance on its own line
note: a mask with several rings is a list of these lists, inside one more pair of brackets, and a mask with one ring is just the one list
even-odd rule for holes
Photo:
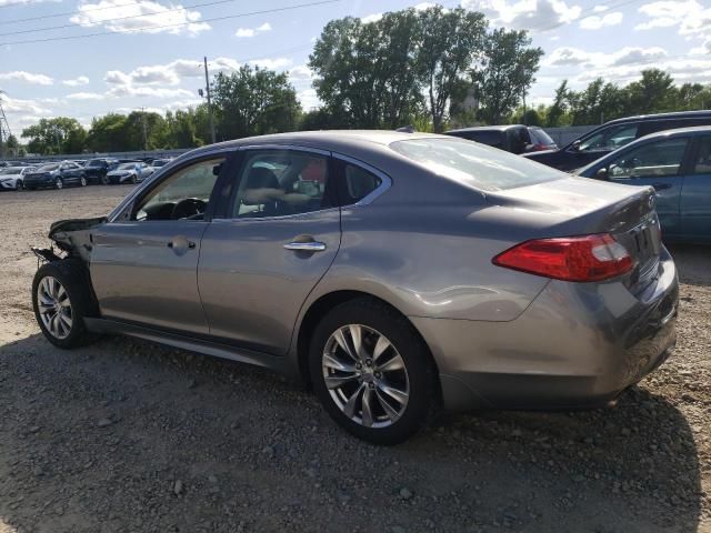
[[0,167],[0,190],[63,189],[96,184],[140,183],[170,159],[121,161],[98,158],[87,161],[53,161],[31,164],[6,162]]

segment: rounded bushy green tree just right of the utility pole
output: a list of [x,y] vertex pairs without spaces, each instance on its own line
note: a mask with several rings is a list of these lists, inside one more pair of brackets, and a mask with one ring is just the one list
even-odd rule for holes
[[212,93],[222,139],[292,131],[301,112],[287,74],[259,67],[220,72]]

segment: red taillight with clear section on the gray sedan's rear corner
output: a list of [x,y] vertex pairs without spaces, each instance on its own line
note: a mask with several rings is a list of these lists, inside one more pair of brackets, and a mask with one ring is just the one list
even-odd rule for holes
[[601,281],[629,272],[634,261],[609,233],[525,241],[493,264],[564,281]]

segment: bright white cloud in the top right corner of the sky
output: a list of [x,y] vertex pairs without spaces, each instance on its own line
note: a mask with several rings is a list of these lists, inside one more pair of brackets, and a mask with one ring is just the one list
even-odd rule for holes
[[711,24],[711,4],[698,0],[662,0],[640,6],[638,11],[649,20],[637,24],[635,30],[679,27],[682,36],[698,33]]

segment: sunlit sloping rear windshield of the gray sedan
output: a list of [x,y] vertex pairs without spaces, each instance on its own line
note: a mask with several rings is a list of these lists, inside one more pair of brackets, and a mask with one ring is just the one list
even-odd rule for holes
[[458,139],[412,139],[395,141],[390,148],[435,174],[483,191],[533,185],[568,175],[520,155]]

